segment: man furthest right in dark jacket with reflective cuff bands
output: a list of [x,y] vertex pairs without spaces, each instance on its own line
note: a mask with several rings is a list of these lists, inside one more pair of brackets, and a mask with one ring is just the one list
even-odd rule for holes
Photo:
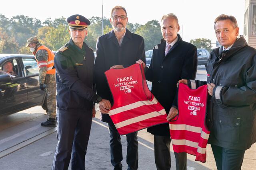
[[238,36],[236,18],[214,21],[222,45],[210,53],[207,82],[180,80],[189,86],[208,85],[208,143],[218,170],[240,170],[244,152],[256,142],[256,50]]

